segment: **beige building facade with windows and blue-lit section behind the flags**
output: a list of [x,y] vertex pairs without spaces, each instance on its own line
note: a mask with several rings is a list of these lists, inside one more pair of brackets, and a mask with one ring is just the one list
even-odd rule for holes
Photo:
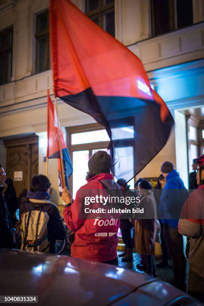
[[[191,159],[204,150],[204,0],[73,2],[141,59],[174,117],[165,147],[137,177],[157,177],[169,160],[187,187]],[[0,163],[11,178],[22,172],[14,181],[18,195],[33,174],[45,173],[47,88],[52,93],[48,6],[48,0],[0,1]],[[87,158],[108,139],[87,114],[62,101],[58,112],[73,161],[74,193],[84,181]],[[61,204],[54,159],[49,178],[52,197]]]

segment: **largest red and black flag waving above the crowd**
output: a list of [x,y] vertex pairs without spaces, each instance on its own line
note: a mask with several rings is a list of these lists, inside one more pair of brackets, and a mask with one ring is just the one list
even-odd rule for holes
[[54,94],[105,127],[112,172],[129,180],[164,146],[172,116],[128,48],[69,0],[49,12]]

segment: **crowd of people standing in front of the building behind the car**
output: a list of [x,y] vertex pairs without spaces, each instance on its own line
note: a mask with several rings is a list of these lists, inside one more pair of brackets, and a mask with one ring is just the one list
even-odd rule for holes
[[[105,151],[95,152],[88,160],[87,183],[76,192],[75,199],[68,189],[62,192],[65,203],[63,221],[71,231],[68,240],[71,256],[118,264],[117,233],[120,227],[124,251],[119,254],[122,261],[131,261],[132,252],[140,254],[137,268],[149,275],[156,275],[156,267],[163,268],[172,261],[174,285],[185,290],[186,257],[183,235],[187,236],[188,258],[187,292],[204,301],[204,155],[194,159],[193,172],[189,175],[190,190],[186,190],[179,173],[171,162],[160,167],[154,189],[149,181],[139,178],[134,190],[123,178],[114,181],[110,171],[111,158]],[[197,172],[197,173],[196,173]],[[195,181],[196,180],[196,181]],[[55,242],[63,241],[66,230],[57,206],[51,202],[49,179],[35,175],[30,189],[22,197],[19,207],[21,223],[21,248],[55,252]],[[98,190],[117,189],[122,194],[138,194],[139,205],[145,204],[150,218],[120,218],[107,212],[97,218],[82,218],[80,209],[85,195],[95,196]],[[81,196],[82,195],[82,196]],[[10,178],[0,165],[0,247],[13,247],[15,210],[18,206],[15,190]],[[34,225],[33,225],[34,224]],[[36,226],[37,224],[37,226]],[[159,230],[162,260],[155,265],[155,241]]]

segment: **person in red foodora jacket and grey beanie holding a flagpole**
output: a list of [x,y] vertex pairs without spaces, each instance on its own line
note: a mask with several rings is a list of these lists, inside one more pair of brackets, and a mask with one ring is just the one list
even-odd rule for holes
[[[92,218],[82,213],[86,206],[85,197],[96,197],[98,192],[106,190],[121,190],[121,187],[114,182],[110,168],[110,155],[99,150],[88,160],[87,183],[78,189],[75,200],[72,200],[68,190],[64,189],[62,192],[62,199],[67,204],[63,210],[63,218],[66,226],[72,231],[70,241],[72,257],[110,264],[118,263],[116,248],[119,218],[106,213],[98,213],[98,216]],[[104,207],[102,204],[96,206]]]

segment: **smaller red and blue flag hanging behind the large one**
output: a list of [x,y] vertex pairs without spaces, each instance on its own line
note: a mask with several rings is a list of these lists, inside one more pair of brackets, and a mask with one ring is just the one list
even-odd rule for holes
[[[59,194],[62,191],[62,168],[60,162],[60,151],[59,151],[59,136],[58,136],[58,118],[56,115],[55,107],[47,94],[47,158],[58,158],[58,179],[59,179]],[[63,138],[61,128],[59,126],[59,135],[61,139],[61,151],[63,159],[63,170],[64,170],[64,182],[68,188],[68,177],[72,173],[71,160],[66,148],[66,144]]]

